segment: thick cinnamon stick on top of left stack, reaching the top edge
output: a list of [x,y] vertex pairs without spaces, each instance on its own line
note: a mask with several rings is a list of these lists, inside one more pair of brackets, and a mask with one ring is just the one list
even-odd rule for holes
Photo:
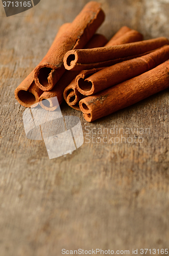
[[63,57],[71,49],[83,49],[105,18],[101,4],[91,1],[71,23],[69,29],[55,40],[46,56],[35,69],[35,83],[43,91],[50,91],[63,75]]

